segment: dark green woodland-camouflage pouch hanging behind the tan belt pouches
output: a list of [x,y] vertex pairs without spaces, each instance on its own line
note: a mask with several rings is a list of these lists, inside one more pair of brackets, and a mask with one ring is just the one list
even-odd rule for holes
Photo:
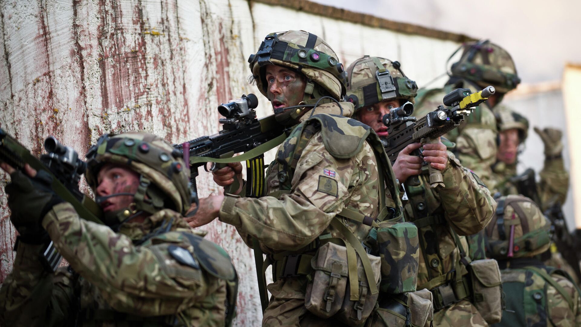
[[376,229],[376,239],[381,257],[381,292],[415,292],[419,266],[418,228],[411,222],[383,221]]

